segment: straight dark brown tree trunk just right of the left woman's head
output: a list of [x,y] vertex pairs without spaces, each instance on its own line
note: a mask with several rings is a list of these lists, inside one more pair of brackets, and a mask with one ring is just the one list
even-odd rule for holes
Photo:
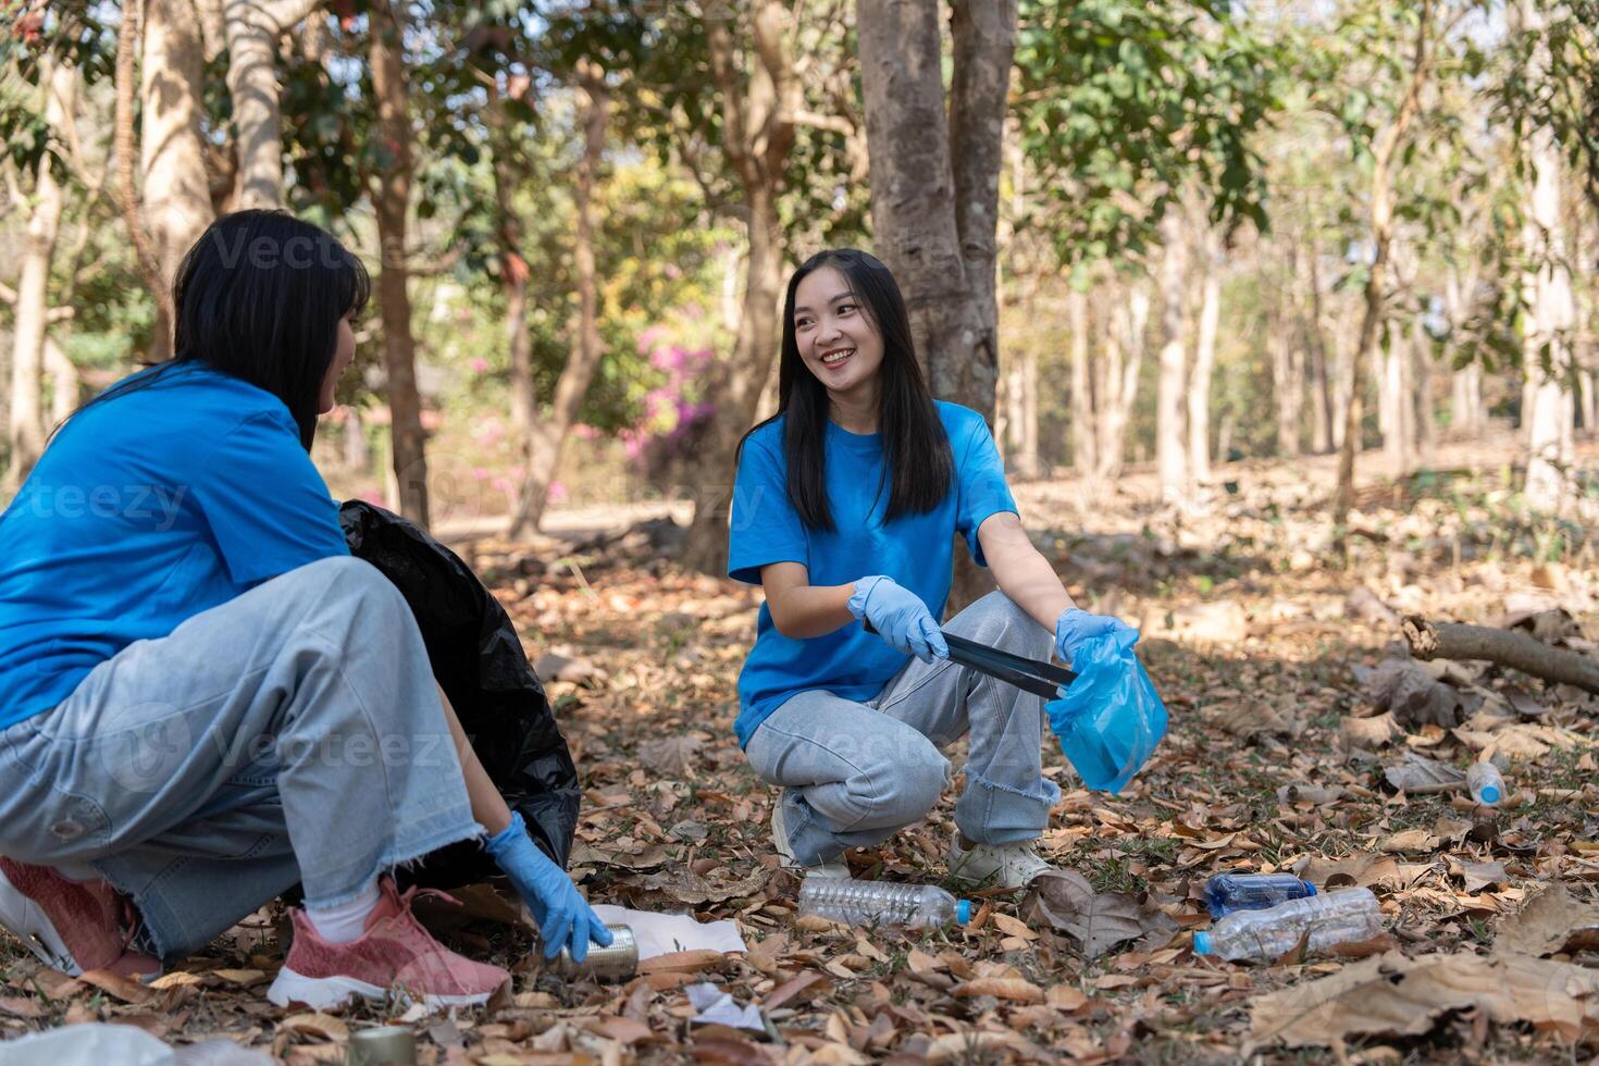
[[416,388],[416,339],[411,334],[411,272],[406,267],[406,213],[411,205],[411,110],[406,99],[403,10],[393,0],[371,8],[369,61],[377,129],[389,149],[387,169],[369,174],[377,216],[382,270],[377,307],[384,323],[384,368],[389,377],[389,433],[400,513],[427,529],[427,441],[422,398]]

